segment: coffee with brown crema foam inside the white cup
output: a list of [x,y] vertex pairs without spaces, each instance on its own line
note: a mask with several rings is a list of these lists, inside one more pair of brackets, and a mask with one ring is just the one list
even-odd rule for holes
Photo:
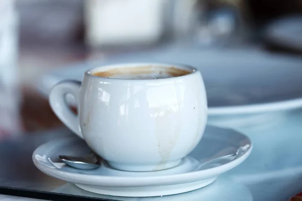
[[143,67],[119,67],[107,71],[92,73],[99,77],[115,79],[163,79],[178,77],[191,73],[189,70],[176,67],[143,66]]

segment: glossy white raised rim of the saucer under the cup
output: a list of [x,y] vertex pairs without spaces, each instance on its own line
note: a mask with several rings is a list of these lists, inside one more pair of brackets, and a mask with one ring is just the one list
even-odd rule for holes
[[[73,172],[67,172],[60,170],[58,168],[51,168],[43,163],[39,162],[39,160],[35,157],[35,155],[38,154],[38,152],[41,152],[41,150],[45,149],[45,147],[49,146],[50,144],[53,144],[57,140],[49,141],[45,144],[40,145],[36,150],[33,152],[32,160],[35,164],[35,166],[42,172],[44,172],[47,175],[50,175],[52,177],[69,181],[72,183],[82,183],[82,184],[90,184],[90,185],[106,185],[106,186],[116,186],[117,183],[119,186],[149,186],[149,185],[170,185],[170,184],[176,184],[176,183],[189,183],[194,180],[204,180],[208,178],[215,177],[221,173],[224,173],[226,171],[229,171],[233,169],[234,167],[241,164],[243,161],[245,161],[249,155],[251,154],[251,151],[253,149],[253,144],[249,137],[247,137],[244,134],[241,134],[238,131],[235,131],[233,129],[225,129],[225,130],[232,130],[237,133],[237,135],[243,135],[247,140],[247,144],[250,145],[250,147],[246,150],[246,152],[241,155],[240,157],[236,158],[235,160],[232,160],[228,163],[225,163],[223,165],[220,165],[218,167],[203,169],[203,170],[197,170],[192,172],[186,172],[186,173],[180,173],[180,174],[173,174],[173,175],[158,175],[158,176],[145,176],[145,177],[125,177],[125,176],[104,176],[104,175],[87,175],[87,174],[80,174],[80,173],[73,173]],[[73,137],[63,138],[60,140],[71,140]],[[57,175],[60,175],[58,177]],[[73,179],[70,179],[73,178]],[[110,178],[110,179],[109,179]],[[87,182],[88,181],[88,182]]]

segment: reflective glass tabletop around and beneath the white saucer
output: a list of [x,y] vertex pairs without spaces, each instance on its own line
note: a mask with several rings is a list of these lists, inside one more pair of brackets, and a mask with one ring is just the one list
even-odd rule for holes
[[[254,143],[250,157],[211,185],[163,197],[115,197],[82,190],[39,171],[33,151],[52,139],[73,135],[62,127],[0,142],[0,193],[47,200],[289,200],[302,191],[302,110],[269,116],[258,126],[230,125]],[[285,136],[285,137],[284,137]]]

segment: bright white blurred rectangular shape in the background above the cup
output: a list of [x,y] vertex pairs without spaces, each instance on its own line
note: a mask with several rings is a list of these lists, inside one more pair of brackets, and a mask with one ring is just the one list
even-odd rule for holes
[[87,43],[93,47],[156,43],[163,34],[164,1],[86,1]]

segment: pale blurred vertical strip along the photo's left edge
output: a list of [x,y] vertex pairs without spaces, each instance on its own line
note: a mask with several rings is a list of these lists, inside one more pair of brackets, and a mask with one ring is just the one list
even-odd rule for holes
[[18,15],[15,1],[0,1],[0,139],[17,134],[20,90],[18,88]]

